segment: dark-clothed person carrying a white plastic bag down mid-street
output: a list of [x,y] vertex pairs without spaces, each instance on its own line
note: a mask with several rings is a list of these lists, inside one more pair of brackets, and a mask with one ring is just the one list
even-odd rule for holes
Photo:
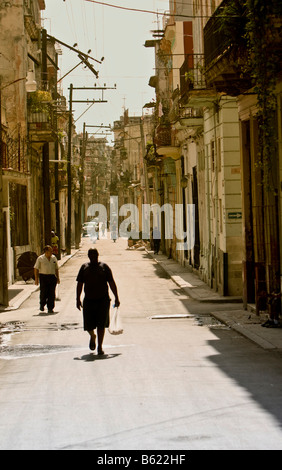
[[[84,263],[77,275],[76,306],[78,310],[83,308],[84,331],[90,335],[89,348],[96,349],[96,334],[98,337],[98,354],[103,355],[103,340],[105,328],[110,323],[110,302],[109,289],[115,296],[115,307],[120,305],[117,286],[113,278],[112,271],[106,263],[98,261],[99,253],[96,248],[88,250],[89,262]],[[80,297],[84,286],[84,299],[81,303]]]

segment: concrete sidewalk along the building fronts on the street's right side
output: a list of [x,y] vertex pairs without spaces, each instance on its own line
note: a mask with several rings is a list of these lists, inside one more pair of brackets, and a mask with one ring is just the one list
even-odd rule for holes
[[[201,281],[197,274],[192,272],[191,268],[181,266],[162,254],[155,255],[153,251],[147,251],[147,253],[167,272],[176,285],[183,289],[188,297],[199,302],[214,303],[214,309],[211,307],[209,312],[217,320],[264,349],[282,350],[282,328],[261,326],[268,318],[266,314],[256,315],[253,305],[249,305],[248,310],[245,310],[240,297],[224,297],[214,292]],[[228,309],[226,306],[226,310],[219,310],[216,307],[218,303],[232,303],[233,305],[232,308]],[[238,308],[236,308],[236,303]]]

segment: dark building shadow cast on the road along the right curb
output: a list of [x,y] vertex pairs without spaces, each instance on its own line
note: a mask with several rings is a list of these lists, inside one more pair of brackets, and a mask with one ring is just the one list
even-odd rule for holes
[[[147,253],[143,254],[143,258],[152,260],[152,256]],[[163,274],[164,269],[158,263],[153,263],[153,266],[159,277],[166,277]],[[176,297],[183,296],[179,299],[180,302],[195,318],[201,318],[205,313],[210,314],[215,306],[217,311],[243,308],[241,303],[199,302],[188,297],[186,291],[178,287],[172,292]],[[202,327],[195,322],[195,328]],[[214,351],[207,358],[210,363],[244,390],[253,403],[272,416],[282,429],[282,350],[265,350],[235,330],[225,328],[225,325],[205,327],[214,336],[207,341]]]

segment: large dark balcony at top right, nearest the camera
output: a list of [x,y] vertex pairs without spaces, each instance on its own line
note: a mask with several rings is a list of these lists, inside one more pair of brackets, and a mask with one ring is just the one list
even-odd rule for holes
[[250,77],[243,73],[246,45],[244,30],[245,10],[226,19],[224,0],[204,28],[205,77],[208,87],[230,96],[238,96],[251,88]]

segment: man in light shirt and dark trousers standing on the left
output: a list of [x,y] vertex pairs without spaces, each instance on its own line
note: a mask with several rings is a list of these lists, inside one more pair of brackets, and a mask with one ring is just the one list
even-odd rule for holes
[[34,265],[35,285],[40,283],[40,310],[44,312],[47,304],[48,313],[54,313],[56,285],[60,284],[58,261],[52,252],[52,247],[46,245]]

